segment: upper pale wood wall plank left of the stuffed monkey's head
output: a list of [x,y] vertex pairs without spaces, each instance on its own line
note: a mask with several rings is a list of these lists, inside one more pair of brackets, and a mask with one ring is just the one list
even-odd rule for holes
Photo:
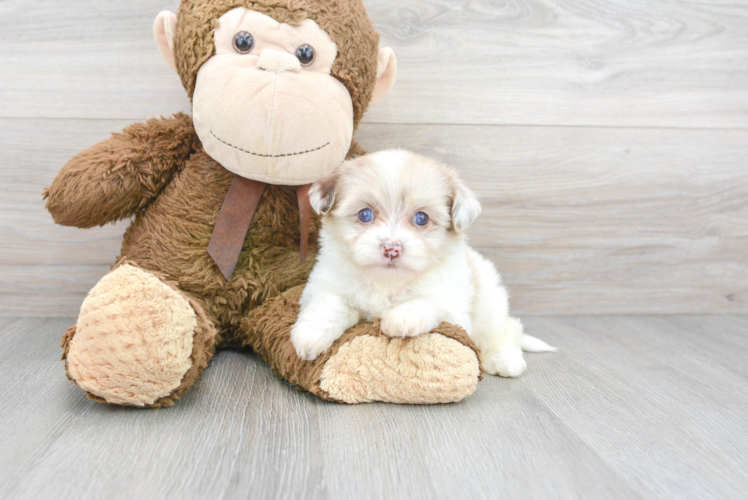
[[141,120],[189,110],[153,40],[156,15],[178,4],[3,2],[0,116]]

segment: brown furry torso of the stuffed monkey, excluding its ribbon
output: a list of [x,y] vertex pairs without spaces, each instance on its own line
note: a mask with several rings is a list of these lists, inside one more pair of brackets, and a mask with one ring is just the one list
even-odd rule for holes
[[119,260],[165,274],[212,316],[221,345],[233,345],[250,310],[303,284],[316,252],[312,224],[309,257],[299,260],[299,212],[293,188],[268,186],[257,207],[232,279],[208,255],[218,213],[234,174],[196,153],[127,229]]

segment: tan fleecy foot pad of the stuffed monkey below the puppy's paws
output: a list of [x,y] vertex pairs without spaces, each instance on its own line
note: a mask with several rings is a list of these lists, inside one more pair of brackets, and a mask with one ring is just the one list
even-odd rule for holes
[[475,351],[444,335],[360,335],[327,361],[320,388],[345,403],[452,403],[475,392],[479,376]]

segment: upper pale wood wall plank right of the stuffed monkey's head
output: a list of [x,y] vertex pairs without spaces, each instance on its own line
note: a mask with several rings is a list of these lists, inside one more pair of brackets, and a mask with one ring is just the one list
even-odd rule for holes
[[367,5],[401,61],[372,122],[748,127],[743,3]]

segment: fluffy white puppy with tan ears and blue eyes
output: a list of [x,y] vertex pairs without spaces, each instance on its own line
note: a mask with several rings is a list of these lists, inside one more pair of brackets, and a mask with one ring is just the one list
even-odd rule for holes
[[554,351],[509,316],[491,262],[463,234],[481,212],[454,170],[401,150],[343,163],[309,190],[321,214],[320,251],[291,342],[312,360],[359,321],[382,319],[390,337],[461,326],[484,371],[516,377],[525,351]]

